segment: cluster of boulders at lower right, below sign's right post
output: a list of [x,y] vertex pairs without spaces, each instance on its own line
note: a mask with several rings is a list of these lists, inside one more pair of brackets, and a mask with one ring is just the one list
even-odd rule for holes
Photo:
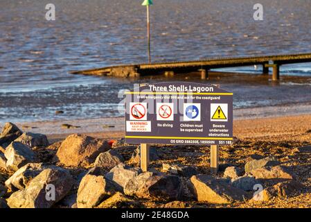
[[[234,201],[268,201],[274,197],[285,197],[299,192],[303,185],[296,175],[281,166],[274,157],[249,160],[245,174],[237,167],[227,167],[223,178],[195,175],[188,186],[199,202],[226,204]],[[258,190],[259,189],[259,190]]]

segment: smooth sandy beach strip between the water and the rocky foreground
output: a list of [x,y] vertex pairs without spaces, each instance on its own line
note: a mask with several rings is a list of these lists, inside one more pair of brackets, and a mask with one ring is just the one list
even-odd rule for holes
[[[279,112],[281,109],[284,108],[235,110],[241,113],[241,117],[233,120],[233,136],[251,141],[311,142],[311,114],[286,112],[284,115],[284,112]],[[292,108],[292,110],[296,109],[299,107]],[[274,112],[276,115],[269,114],[269,117],[254,118],[258,112]],[[63,124],[71,128],[66,128],[62,126]],[[120,139],[125,134],[124,117],[22,122],[16,125],[25,132],[47,135],[50,143],[60,141],[74,133],[103,139]],[[0,128],[2,126],[0,125]]]

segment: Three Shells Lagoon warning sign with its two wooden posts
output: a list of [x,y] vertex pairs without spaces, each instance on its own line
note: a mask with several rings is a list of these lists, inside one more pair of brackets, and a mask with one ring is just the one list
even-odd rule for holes
[[215,85],[171,82],[125,94],[125,142],[141,144],[143,171],[148,171],[148,144],[180,144],[211,146],[211,173],[217,173],[219,146],[233,141],[233,93]]

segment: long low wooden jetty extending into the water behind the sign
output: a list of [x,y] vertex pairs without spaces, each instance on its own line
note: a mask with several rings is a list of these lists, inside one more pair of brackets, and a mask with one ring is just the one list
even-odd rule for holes
[[269,75],[269,67],[272,67],[272,80],[280,79],[281,65],[311,62],[311,53],[278,55],[278,56],[255,56],[244,58],[211,58],[206,60],[184,62],[155,62],[145,64],[116,65],[100,69],[71,71],[71,74],[114,76],[114,77],[139,77],[141,75],[165,74],[173,76],[175,73],[198,71],[202,79],[208,78],[210,69],[245,67],[262,65],[263,74]]

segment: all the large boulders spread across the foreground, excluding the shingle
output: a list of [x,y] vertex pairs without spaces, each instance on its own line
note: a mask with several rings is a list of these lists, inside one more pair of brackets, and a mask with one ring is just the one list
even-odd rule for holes
[[[12,123],[3,128],[0,145],[0,208],[128,207],[137,204],[136,198],[185,206],[180,202],[185,190],[199,202],[229,204],[270,200],[302,189],[296,175],[274,157],[249,159],[244,169],[227,167],[217,178],[175,163],[163,164],[161,172],[142,172],[139,149],[126,162],[105,139],[78,134],[54,144],[53,164],[39,162],[37,147],[49,145],[46,136],[23,133]],[[157,150],[151,153],[153,160],[159,159]],[[263,190],[254,195],[260,186]]]

